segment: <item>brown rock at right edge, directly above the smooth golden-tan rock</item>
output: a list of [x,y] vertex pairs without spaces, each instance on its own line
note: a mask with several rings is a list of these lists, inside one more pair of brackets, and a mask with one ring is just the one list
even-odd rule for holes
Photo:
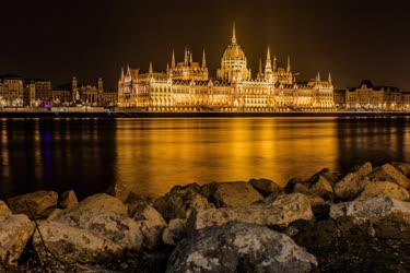
[[371,181],[389,181],[395,182],[405,189],[410,188],[409,178],[390,164],[385,164],[382,167],[375,168],[367,177]]

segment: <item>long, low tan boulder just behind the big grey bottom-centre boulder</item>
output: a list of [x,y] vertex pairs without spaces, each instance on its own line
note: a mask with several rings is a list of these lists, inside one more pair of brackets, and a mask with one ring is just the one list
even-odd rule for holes
[[200,229],[227,222],[242,222],[267,226],[288,226],[296,219],[311,219],[311,201],[301,193],[282,194],[272,203],[261,202],[248,206],[199,210],[188,219],[191,228]]

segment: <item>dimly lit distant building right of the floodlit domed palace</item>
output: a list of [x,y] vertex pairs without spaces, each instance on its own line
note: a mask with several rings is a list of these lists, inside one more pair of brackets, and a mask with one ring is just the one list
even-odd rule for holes
[[345,107],[363,110],[405,110],[409,109],[408,93],[398,87],[375,86],[368,80],[358,87],[345,90]]

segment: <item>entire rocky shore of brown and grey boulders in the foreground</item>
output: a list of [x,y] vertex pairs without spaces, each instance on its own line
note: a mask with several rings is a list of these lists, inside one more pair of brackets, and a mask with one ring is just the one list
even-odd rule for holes
[[0,201],[0,272],[409,272],[410,164]]

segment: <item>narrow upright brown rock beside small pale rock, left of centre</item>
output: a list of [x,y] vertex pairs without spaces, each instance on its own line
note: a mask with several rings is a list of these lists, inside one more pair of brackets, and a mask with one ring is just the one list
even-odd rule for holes
[[153,249],[160,244],[161,235],[166,227],[164,217],[150,204],[137,201],[128,205],[131,218],[141,225],[143,245]]

